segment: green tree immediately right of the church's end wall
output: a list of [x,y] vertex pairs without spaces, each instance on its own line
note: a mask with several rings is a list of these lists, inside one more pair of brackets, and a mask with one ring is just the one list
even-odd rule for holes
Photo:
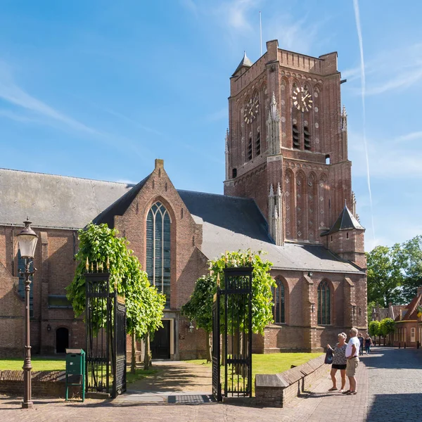
[[402,302],[399,249],[398,244],[392,248],[377,246],[366,253],[368,302],[379,303],[381,307],[387,307],[389,302]]

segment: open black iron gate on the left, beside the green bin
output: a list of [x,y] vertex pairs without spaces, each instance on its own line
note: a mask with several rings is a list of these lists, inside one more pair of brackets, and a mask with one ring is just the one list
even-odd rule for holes
[[126,308],[109,273],[85,274],[86,388],[115,398],[126,391]]

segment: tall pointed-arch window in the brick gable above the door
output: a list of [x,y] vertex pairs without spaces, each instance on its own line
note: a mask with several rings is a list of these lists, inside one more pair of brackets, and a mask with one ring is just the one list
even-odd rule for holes
[[146,218],[146,272],[170,308],[170,215],[160,202],[153,204]]

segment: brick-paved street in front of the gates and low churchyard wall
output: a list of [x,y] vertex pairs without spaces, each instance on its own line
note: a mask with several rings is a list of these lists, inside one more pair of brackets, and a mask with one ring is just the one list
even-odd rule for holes
[[90,399],[84,404],[41,399],[35,400],[34,409],[24,410],[20,409],[20,399],[0,396],[0,421],[331,422],[349,419],[350,412],[354,422],[422,421],[422,350],[376,347],[373,354],[362,357],[357,377],[357,395],[328,392],[331,379],[327,373],[311,391],[283,409],[246,406],[243,402],[147,404],[122,396],[113,402]]

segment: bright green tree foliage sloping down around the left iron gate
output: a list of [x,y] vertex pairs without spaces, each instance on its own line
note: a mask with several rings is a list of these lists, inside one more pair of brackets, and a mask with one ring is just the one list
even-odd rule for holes
[[[66,288],[68,300],[72,303],[75,316],[83,314],[86,304],[84,274],[87,259],[103,267],[109,262],[110,290],[117,288],[117,293],[125,298],[127,332],[132,335],[133,342],[136,337],[148,340],[148,336],[162,326],[165,296],[151,286],[138,258],[129,250],[129,242],[117,237],[117,234],[117,230],[109,229],[107,224],[90,223],[86,229],[79,230],[79,250],[76,254],[78,264],[75,277]],[[96,328],[101,328],[106,312],[99,310],[93,316]],[[135,359],[132,353],[133,368]]]

